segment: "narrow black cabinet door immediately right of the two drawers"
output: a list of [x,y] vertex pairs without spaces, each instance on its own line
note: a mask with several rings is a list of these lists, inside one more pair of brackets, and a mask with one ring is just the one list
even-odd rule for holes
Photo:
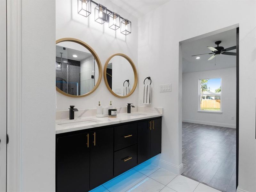
[[150,121],[138,123],[138,164],[150,158]]

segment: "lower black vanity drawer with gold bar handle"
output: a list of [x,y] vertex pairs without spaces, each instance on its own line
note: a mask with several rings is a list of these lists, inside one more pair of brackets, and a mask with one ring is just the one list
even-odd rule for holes
[[137,145],[127,147],[114,153],[114,176],[137,165]]

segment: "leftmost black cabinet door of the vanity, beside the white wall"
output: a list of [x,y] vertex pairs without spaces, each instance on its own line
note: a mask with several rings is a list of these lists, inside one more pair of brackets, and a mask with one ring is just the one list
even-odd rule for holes
[[56,145],[56,191],[88,191],[90,150],[87,133],[59,137]]

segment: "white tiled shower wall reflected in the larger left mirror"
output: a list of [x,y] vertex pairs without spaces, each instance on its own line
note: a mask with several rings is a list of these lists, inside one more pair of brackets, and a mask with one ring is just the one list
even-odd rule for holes
[[81,87],[80,94],[83,95],[90,92],[94,87],[94,57],[90,56],[84,60],[81,60]]

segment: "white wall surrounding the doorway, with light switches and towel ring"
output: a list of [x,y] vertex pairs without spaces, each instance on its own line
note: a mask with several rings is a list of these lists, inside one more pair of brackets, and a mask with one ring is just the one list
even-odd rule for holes
[[[216,5],[220,5],[217,10]],[[212,19],[212,15],[227,12],[232,17]],[[180,170],[182,68],[179,61],[182,60],[179,42],[239,23],[239,188],[247,191],[256,191],[255,14],[256,1],[186,0],[170,1],[138,20],[139,81],[151,76],[152,106],[164,108],[162,154],[158,158]],[[160,93],[158,85],[167,83],[172,83],[172,92]],[[139,86],[139,99],[142,91],[143,87]]]

